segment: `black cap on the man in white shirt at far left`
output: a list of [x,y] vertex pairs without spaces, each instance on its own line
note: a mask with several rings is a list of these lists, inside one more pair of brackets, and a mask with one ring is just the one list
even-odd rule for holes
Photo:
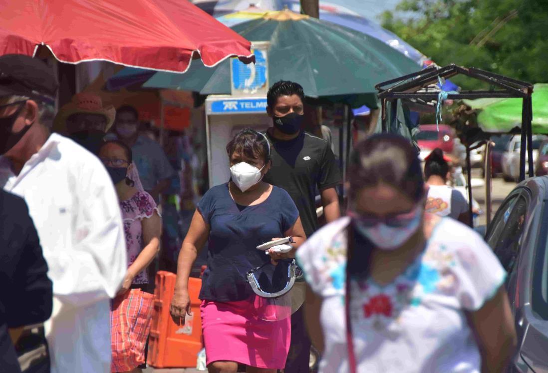
[[53,67],[22,54],[0,56],[0,97],[21,95],[55,103],[58,83]]

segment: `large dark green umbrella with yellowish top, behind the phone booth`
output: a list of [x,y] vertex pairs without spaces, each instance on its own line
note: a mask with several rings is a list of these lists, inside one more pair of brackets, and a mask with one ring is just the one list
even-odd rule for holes
[[[299,82],[307,97],[374,102],[375,84],[419,69],[412,59],[379,39],[289,10],[270,12],[232,27],[250,41],[269,41],[269,83]],[[158,72],[144,87],[230,94],[230,61],[208,69],[192,61],[186,74]],[[361,99],[356,95],[363,95]]]

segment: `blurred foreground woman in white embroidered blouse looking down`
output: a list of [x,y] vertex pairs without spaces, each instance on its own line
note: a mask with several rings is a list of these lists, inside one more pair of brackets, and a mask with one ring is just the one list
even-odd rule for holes
[[320,372],[500,372],[515,349],[504,269],[475,231],[424,212],[420,171],[403,137],[358,144],[349,216],[296,253]]

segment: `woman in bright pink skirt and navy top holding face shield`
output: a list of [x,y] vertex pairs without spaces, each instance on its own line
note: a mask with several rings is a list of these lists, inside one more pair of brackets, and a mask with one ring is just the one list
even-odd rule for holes
[[[191,314],[188,280],[197,252],[208,242],[200,307],[209,372],[273,373],[286,364],[290,313],[269,319],[272,308],[257,307],[246,273],[263,267],[275,272],[278,261],[294,257],[305,239],[299,212],[288,193],[261,181],[270,169],[270,144],[253,129],[239,132],[227,145],[231,180],[210,189],[198,204],[179,253],[170,312],[176,323]],[[228,167],[228,165],[227,165]],[[265,255],[263,242],[293,236],[293,251]]]

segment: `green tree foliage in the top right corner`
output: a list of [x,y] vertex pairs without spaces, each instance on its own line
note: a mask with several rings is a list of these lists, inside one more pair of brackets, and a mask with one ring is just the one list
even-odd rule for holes
[[402,0],[382,22],[440,66],[548,82],[548,0]]

